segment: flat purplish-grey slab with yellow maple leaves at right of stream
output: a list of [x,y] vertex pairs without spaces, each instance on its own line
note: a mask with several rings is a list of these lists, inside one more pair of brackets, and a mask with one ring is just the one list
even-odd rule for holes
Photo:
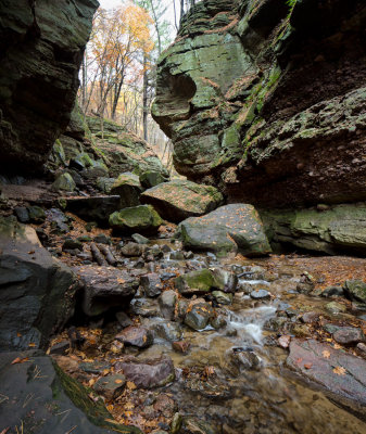
[[287,366],[339,405],[366,418],[366,360],[314,340],[292,340]]

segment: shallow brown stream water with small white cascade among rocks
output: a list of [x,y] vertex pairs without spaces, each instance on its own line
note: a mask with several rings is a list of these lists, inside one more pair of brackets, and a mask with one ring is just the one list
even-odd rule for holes
[[277,271],[273,281],[240,280],[268,290],[272,299],[254,302],[239,292],[232,305],[222,310],[227,319],[224,329],[185,329],[182,339],[191,344],[187,355],[159,341],[143,357],[172,357],[179,378],[166,391],[180,410],[209,422],[214,433],[366,433],[364,422],[286,369],[288,350],[277,345],[276,333],[266,331],[265,324],[289,303],[315,309],[324,301],[293,294],[300,275],[296,267],[283,264]]

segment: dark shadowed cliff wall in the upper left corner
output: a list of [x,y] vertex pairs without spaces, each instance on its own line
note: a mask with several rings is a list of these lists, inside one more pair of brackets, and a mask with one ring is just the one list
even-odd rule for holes
[[97,0],[0,1],[2,170],[40,170],[66,129],[98,5]]

